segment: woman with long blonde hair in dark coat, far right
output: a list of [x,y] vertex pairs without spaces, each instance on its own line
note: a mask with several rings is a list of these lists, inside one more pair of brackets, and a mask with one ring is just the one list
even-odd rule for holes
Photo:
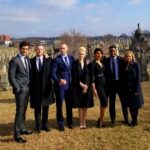
[[138,110],[143,106],[143,94],[141,89],[141,73],[139,64],[135,60],[132,51],[125,53],[126,68],[125,68],[125,83],[126,83],[126,102],[131,114],[131,124],[134,127],[137,125]]

